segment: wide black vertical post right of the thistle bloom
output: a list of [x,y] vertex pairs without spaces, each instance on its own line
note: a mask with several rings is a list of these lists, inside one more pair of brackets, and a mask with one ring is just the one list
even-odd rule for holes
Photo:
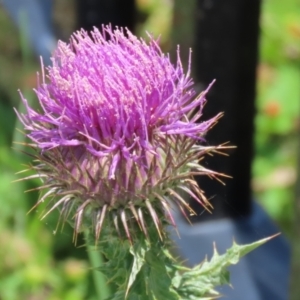
[[251,211],[259,12],[260,0],[198,0],[194,74],[204,86],[217,80],[208,95],[204,118],[225,113],[206,138],[212,145],[230,141],[237,146],[229,157],[207,161],[208,168],[233,177],[225,180],[226,186],[197,179],[215,207],[212,215],[205,212],[200,219],[246,216]]

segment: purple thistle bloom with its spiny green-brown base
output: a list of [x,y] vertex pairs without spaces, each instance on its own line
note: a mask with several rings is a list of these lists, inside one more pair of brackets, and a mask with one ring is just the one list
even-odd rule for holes
[[175,226],[170,203],[192,213],[182,192],[209,206],[193,176],[216,175],[198,161],[218,147],[199,142],[220,115],[198,122],[209,88],[195,96],[179,51],[173,66],[153,38],[105,27],[59,42],[52,62],[35,91],[42,111],[21,95],[27,113],[17,112],[44,182],[37,204],[54,203],[46,215],[74,213],[75,234],[90,218],[96,239],[108,217],[131,239],[136,225],[147,235],[147,214],[162,238],[160,212]]

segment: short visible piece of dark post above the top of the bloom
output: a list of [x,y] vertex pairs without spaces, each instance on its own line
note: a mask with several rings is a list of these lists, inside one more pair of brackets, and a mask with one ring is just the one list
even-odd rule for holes
[[91,30],[103,24],[134,31],[134,0],[77,0],[78,27]]

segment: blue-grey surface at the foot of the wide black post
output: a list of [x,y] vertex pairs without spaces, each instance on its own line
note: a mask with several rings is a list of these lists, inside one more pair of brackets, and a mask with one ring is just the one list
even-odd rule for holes
[[[178,213],[176,215],[180,238],[171,231],[182,258],[193,266],[206,255],[210,258],[213,242],[218,252],[230,248],[233,239],[238,244],[252,243],[274,235],[279,229],[263,209],[253,204],[253,213],[243,220],[222,219],[189,225]],[[290,274],[290,247],[280,235],[246,255],[230,267],[232,287],[218,290],[221,299],[230,300],[286,300],[288,299]]]

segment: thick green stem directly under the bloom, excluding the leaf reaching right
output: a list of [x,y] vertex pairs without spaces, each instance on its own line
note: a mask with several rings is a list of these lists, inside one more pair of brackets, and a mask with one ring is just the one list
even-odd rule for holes
[[[151,224],[150,216],[144,216]],[[130,222],[130,220],[129,220]],[[168,255],[168,237],[160,240],[154,224],[148,226],[148,238],[139,228],[131,227],[131,242],[120,228],[119,236],[109,218],[99,240],[99,249],[106,258],[100,270],[115,286],[113,300],[177,300],[172,290],[175,269]]]

